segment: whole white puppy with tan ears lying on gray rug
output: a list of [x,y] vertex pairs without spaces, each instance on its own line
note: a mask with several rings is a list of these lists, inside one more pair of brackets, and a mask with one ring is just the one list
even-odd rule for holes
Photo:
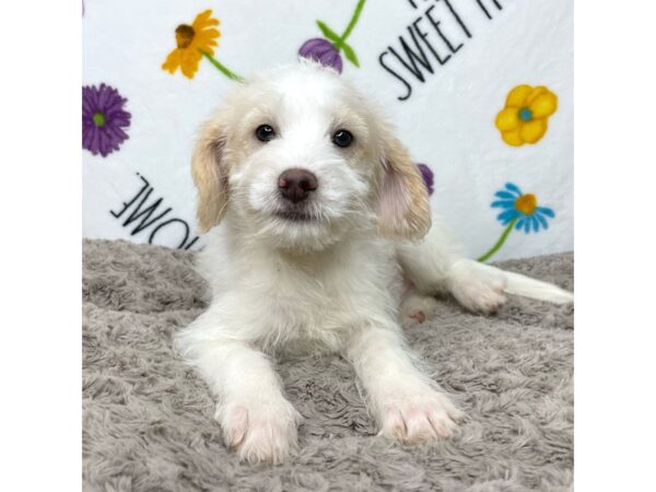
[[251,462],[279,462],[296,444],[300,414],[273,355],[343,353],[382,434],[420,443],[452,435],[462,413],[417,367],[400,316],[427,315],[437,292],[483,313],[504,292],[572,298],[461,258],[431,227],[422,177],[379,110],[312,62],[235,87],[192,173],[201,227],[220,225],[199,265],[211,305],[176,342],[219,400],[226,445]]

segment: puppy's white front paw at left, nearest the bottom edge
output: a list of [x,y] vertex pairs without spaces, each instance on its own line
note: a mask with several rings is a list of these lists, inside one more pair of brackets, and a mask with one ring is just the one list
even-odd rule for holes
[[296,426],[301,420],[292,405],[278,402],[234,402],[219,407],[216,420],[229,449],[249,464],[283,462],[296,448]]

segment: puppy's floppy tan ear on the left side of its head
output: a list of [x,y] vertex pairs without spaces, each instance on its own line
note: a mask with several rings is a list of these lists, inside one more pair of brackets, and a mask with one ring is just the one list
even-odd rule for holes
[[225,138],[223,126],[209,121],[194,150],[191,174],[198,188],[196,214],[201,232],[216,225],[227,207],[227,169],[222,163]]

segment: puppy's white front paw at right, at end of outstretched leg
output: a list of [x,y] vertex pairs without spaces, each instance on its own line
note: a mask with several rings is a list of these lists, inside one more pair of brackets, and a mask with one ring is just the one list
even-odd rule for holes
[[446,395],[434,390],[395,397],[383,406],[379,435],[408,445],[449,438],[464,418]]

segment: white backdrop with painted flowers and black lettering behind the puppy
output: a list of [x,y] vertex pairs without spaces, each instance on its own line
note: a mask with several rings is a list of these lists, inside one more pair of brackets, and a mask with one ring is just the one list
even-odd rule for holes
[[[360,67],[342,49],[342,77],[387,108],[413,157],[431,167],[433,211],[468,253],[480,257],[489,251],[509,220],[520,230],[511,226],[494,259],[573,249],[571,1],[360,3],[348,37]],[[294,61],[305,42],[324,37],[317,20],[341,35],[358,4],[85,0],[84,235],[202,246],[189,157],[199,124],[238,82],[204,57],[192,78],[164,70],[162,63],[176,48],[178,25],[191,25],[211,10],[211,19],[220,21],[208,27],[220,31],[214,59],[246,77]],[[514,92],[502,128],[512,133],[506,140],[537,141],[512,145],[502,139],[495,119],[508,93],[520,85],[530,87]],[[557,99],[558,108],[546,116]],[[539,128],[547,124],[540,137]],[[519,192],[508,191],[507,183],[519,187],[524,198],[517,201]],[[495,196],[500,190],[509,195]],[[493,208],[494,201],[502,202]],[[497,220],[504,211],[506,220]]]

